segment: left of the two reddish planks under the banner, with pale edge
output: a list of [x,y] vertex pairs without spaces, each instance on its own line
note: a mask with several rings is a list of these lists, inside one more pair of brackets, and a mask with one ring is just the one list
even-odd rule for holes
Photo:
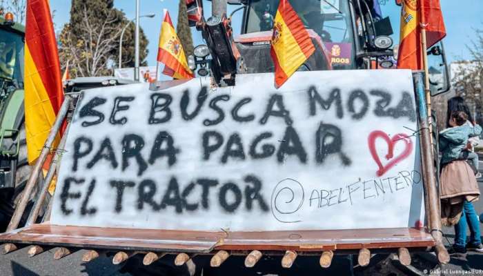
[[126,228],[97,228],[32,224],[0,235],[0,243],[103,248],[139,251],[208,253],[225,235],[223,232],[196,232]]

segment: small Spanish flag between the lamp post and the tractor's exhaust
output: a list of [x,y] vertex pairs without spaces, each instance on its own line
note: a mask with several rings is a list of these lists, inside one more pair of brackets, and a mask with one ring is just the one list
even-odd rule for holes
[[181,41],[172,26],[168,10],[164,10],[164,21],[159,33],[157,61],[164,63],[163,73],[175,79],[193,79],[193,72],[188,67]]

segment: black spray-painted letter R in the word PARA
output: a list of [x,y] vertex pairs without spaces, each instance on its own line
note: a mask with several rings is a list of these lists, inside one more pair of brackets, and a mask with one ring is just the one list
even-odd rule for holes
[[148,168],[148,164],[141,156],[141,150],[144,147],[144,139],[139,135],[130,134],[122,139],[122,171],[129,166],[129,159],[134,157],[137,161],[137,175],[142,175]]

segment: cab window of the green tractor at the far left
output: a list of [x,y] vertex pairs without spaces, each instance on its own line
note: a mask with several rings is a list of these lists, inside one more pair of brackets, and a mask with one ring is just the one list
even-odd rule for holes
[[0,29],[0,78],[17,81],[23,87],[23,37]]

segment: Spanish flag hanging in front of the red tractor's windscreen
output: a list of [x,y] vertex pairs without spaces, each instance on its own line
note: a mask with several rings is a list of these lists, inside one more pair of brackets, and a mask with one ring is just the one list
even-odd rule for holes
[[275,86],[279,88],[311,57],[315,47],[304,23],[288,0],[281,0],[273,22],[270,55],[275,64]]

